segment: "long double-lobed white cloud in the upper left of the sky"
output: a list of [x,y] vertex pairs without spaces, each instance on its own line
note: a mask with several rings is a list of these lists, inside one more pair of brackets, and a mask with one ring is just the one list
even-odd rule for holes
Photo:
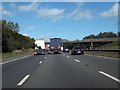
[[30,12],[36,14],[36,17],[38,18],[44,18],[44,19],[52,19],[52,21],[56,21],[58,19],[61,19],[64,14],[64,9],[57,9],[57,8],[39,8],[39,3],[33,2],[28,5],[21,5],[19,6],[19,11],[22,12]]

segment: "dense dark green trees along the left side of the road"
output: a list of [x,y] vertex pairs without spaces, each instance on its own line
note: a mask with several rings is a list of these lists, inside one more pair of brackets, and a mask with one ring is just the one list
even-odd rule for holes
[[0,20],[2,23],[2,52],[28,49],[34,47],[34,39],[19,33],[18,23]]

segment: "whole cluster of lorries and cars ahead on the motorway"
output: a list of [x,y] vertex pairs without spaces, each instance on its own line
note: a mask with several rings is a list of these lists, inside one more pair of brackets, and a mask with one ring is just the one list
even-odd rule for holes
[[84,49],[81,46],[74,46],[71,50],[68,48],[63,48],[61,38],[51,38],[50,45],[45,45],[44,39],[37,39],[35,41],[35,51],[34,55],[44,55],[45,52],[56,54],[60,52],[70,52],[73,54],[84,55]]

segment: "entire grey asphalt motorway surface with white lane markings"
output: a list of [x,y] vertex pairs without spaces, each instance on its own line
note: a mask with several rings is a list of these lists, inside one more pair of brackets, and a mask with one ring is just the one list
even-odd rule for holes
[[118,88],[119,61],[69,53],[31,55],[2,64],[2,86],[3,88]]

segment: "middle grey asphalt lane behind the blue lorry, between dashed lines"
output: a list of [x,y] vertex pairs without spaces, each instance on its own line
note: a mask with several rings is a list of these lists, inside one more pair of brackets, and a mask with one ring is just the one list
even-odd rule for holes
[[[87,59],[90,59],[87,58]],[[89,65],[76,63],[71,56],[48,56],[22,88],[118,88],[118,83],[106,78]]]

